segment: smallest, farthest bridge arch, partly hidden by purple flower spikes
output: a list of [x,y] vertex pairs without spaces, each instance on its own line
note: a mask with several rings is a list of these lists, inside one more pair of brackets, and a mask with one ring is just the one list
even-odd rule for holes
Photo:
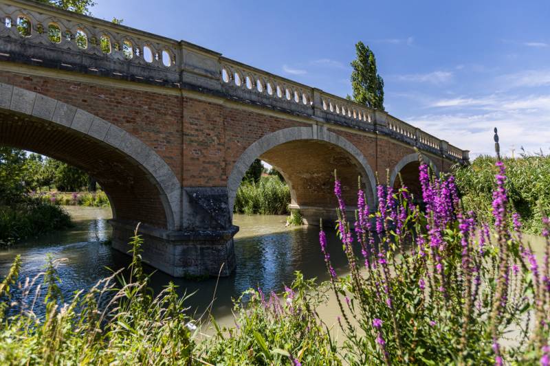
[[[430,170],[439,176],[439,169],[434,162],[424,154],[421,154],[422,161],[430,167]],[[412,154],[406,155],[403,159],[395,165],[390,175],[390,186],[398,189],[401,187],[401,182],[399,181],[397,175],[401,173],[401,179],[403,179],[404,185],[408,187],[409,192],[411,192],[417,200],[422,198],[422,190],[419,181],[419,166],[420,162],[418,159],[418,154],[413,152]]]

